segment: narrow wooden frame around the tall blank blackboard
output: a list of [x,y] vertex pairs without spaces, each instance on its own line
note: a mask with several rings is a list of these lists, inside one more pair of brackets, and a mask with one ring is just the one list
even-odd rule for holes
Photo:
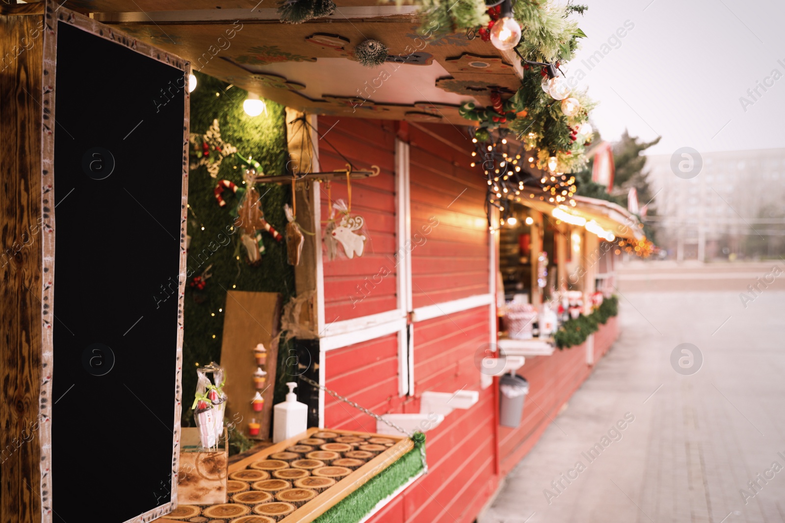
[[[96,35],[105,40],[123,45],[153,60],[158,60],[171,67],[183,71],[184,85],[188,85],[188,77],[191,74],[191,64],[178,56],[156,49],[152,45],[137,41],[136,38],[126,35],[122,31],[116,31],[111,27],[100,24],[87,16],[75,13],[70,9],[60,7],[53,0],[46,0],[44,13],[43,31],[43,85],[42,85],[42,173],[41,173],[41,198],[42,209],[49,208],[47,201],[54,202],[54,140],[55,140],[55,78],[57,74],[57,25],[59,22],[70,24]],[[155,507],[144,514],[139,514],[135,518],[130,518],[126,523],[141,523],[159,518],[164,514],[169,514],[174,507],[177,507],[177,473],[179,470],[180,459],[180,420],[181,420],[181,399],[182,399],[182,347],[183,347],[183,300],[185,294],[186,280],[186,220],[188,212],[188,127],[190,116],[191,95],[188,89],[184,91],[184,121],[183,121],[183,155],[182,155],[182,194],[181,194],[181,238],[180,238],[180,271],[179,271],[179,294],[177,296],[177,369],[174,374],[175,383],[175,406],[173,419],[173,438],[172,438],[172,481],[171,481],[171,501],[166,505]],[[49,401],[52,395],[53,379],[53,329],[54,318],[49,318],[49,311],[54,305],[54,261],[55,261],[55,212],[54,205],[51,205],[51,212],[44,214],[42,228],[44,230],[42,239],[42,369],[41,389],[38,401],[38,419],[41,419],[41,430],[39,441],[41,444],[41,485],[39,496],[41,496],[41,521],[51,523],[52,514],[52,492],[51,476],[57,474],[57,470],[52,470],[52,429],[49,423],[52,414],[52,402]],[[47,303],[47,305],[44,305]],[[174,325],[172,325],[174,329]],[[79,452],[79,450],[75,450]]]

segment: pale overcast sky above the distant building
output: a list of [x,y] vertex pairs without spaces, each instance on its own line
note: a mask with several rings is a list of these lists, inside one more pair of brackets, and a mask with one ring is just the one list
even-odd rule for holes
[[[600,102],[592,120],[605,140],[626,128],[663,136],[648,154],[785,147],[783,0],[575,3],[589,5],[579,20],[588,38],[563,70],[585,75],[578,85]],[[757,82],[769,86],[753,98]]]

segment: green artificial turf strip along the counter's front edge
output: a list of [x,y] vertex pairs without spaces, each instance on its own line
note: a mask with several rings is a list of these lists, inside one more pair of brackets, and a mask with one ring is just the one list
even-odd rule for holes
[[401,485],[405,485],[422,471],[419,445],[425,443],[415,443],[414,449],[346,496],[340,503],[330,507],[313,523],[357,523],[363,519],[377,503],[392,495]]

